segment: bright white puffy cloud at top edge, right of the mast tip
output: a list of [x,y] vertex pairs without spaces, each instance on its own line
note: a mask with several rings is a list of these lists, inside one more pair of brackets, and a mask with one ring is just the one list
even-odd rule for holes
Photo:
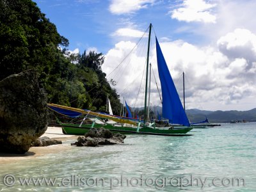
[[184,0],[182,7],[173,10],[172,19],[186,22],[215,23],[216,16],[211,13],[216,4],[206,3],[204,0]]

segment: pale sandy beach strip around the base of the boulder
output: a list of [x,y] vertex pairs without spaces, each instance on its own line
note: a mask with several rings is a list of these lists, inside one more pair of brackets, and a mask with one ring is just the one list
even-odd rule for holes
[[[61,127],[48,127],[47,131],[45,131],[45,133],[41,137],[44,137],[44,136],[47,136],[49,138],[52,138],[54,140],[59,140],[59,141],[77,139],[77,136],[75,135],[63,134]],[[34,158],[34,157],[42,156],[45,154],[55,154],[55,153],[61,152],[62,150],[68,150],[71,148],[72,146],[70,145],[60,144],[60,145],[51,145],[47,147],[31,147],[29,148],[29,151],[26,152],[25,154],[0,153],[0,164],[16,162],[22,159]]]

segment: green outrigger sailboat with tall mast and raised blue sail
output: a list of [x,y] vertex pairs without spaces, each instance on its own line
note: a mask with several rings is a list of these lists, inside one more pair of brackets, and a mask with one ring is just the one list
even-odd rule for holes
[[[188,136],[190,134],[186,134],[187,132],[193,129],[190,127],[188,117],[182,107],[182,104],[179,99],[179,94],[175,88],[175,84],[173,83],[172,76],[168,70],[166,65],[166,61],[164,60],[163,52],[161,51],[161,47],[158,43],[156,37],[156,52],[157,52],[157,67],[159,72],[159,78],[161,82],[161,90],[162,90],[162,104],[163,104],[163,112],[162,116],[166,118],[170,124],[179,124],[181,126],[180,129],[173,129],[172,126],[166,127],[156,127],[154,124],[149,124],[147,121],[147,88],[148,88],[148,58],[150,52],[150,36],[151,36],[152,24],[149,26],[149,34],[148,34],[148,50],[147,50],[147,72],[146,72],[146,83],[145,83],[145,107],[144,107],[144,118],[141,121],[138,118],[124,117],[124,116],[115,116],[109,115],[106,113],[96,113],[93,111],[76,109],[76,108],[68,108],[65,106],[60,106],[56,104],[48,104],[49,108],[56,109],[58,108],[58,113],[63,110],[65,113],[75,113],[84,114],[84,115],[94,115],[98,118],[107,118],[109,120],[113,120],[114,122],[119,122],[121,124],[130,124],[129,127],[125,127],[123,125],[115,125],[115,124],[106,124],[103,125],[104,128],[109,129],[113,132],[121,132],[125,134],[153,134],[153,135],[163,135],[163,136]],[[126,102],[125,102],[126,103]],[[127,104],[126,104],[127,105]],[[88,131],[88,129],[92,127],[97,127],[98,125],[70,125],[70,124],[61,124],[63,127],[63,132],[65,134],[84,134]],[[100,125],[102,127],[102,125]]]

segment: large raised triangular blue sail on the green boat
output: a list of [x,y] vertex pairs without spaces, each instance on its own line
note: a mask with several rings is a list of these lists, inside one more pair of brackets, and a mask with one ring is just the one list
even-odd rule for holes
[[163,53],[156,38],[156,53],[159,78],[161,81],[163,97],[163,117],[168,118],[171,124],[189,126],[188,117],[180,102],[179,94],[175,88],[172,76],[164,60]]

